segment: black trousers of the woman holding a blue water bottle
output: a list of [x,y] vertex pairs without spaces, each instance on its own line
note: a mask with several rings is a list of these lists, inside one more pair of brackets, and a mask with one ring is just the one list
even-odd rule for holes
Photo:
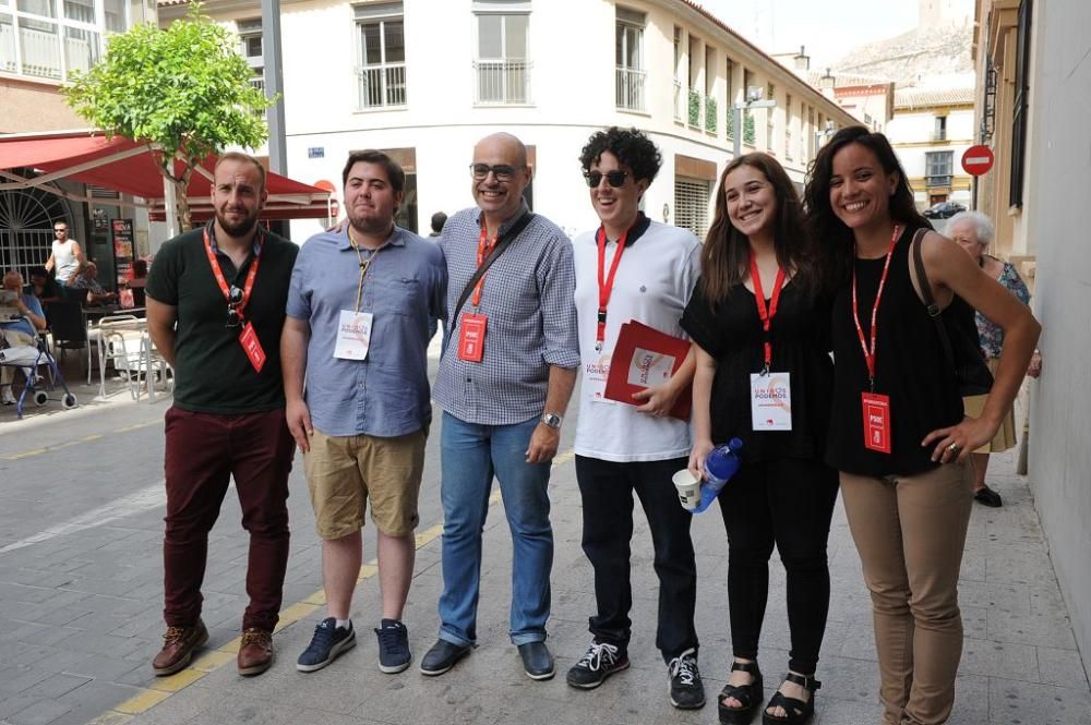
[[826,541],[837,500],[837,471],[819,461],[744,466],[720,492],[728,532],[728,609],[736,657],[757,658],[769,596],[769,556],[777,544],[788,579],[788,666],[813,675],[829,613]]

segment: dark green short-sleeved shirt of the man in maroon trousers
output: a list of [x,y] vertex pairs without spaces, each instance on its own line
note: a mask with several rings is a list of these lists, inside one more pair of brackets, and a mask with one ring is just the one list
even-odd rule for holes
[[[175,306],[178,315],[175,404],[197,413],[226,415],[283,408],[280,328],[299,247],[283,237],[264,235],[261,265],[245,309],[247,321],[253,324],[266,355],[259,373],[239,342],[242,327],[225,326],[227,300],[213,275],[202,232],[194,229],[166,242],[147,277],[148,297]],[[238,269],[223,252],[217,258],[228,285],[242,289],[254,253],[251,251]]]

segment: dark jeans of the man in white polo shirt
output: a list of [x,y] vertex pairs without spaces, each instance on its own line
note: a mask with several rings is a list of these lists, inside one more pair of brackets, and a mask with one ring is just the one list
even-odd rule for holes
[[628,648],[633,606],[630,540],[633,492],[648,517],[659,577],[659,626],[656,647],[670,662],[697,649],[693,626],[697,601],[697,565],[690,539],[693,516],[679,504],[671,476],[687,459],[615,463],[576,456],[576,480],[584,502],[584,553],[595,568],[598,614],[589,629],[596,641]]

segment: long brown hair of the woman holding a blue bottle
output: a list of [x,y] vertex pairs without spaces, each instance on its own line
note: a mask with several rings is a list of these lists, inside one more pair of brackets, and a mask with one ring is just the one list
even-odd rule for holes
[[712,307],[727,300],[729,292],[742,285],[750,274],[750,240],[735,229],[728,216],[728,197],[723,185],[728,174],[748,166],[757,169],[769,181],[777,197],[777,217],[774,230],[774,249],[777,264],[792,269],[792,285],[805,294],[819,291],[819,274],[815,267],[814,244],[803,223],[803,209],[795,185],[783,167],[768,154],[755,153],[740,156],[728,164],[720,174],[716,191],[716,216],[705,237],[700,253],[702,291]]

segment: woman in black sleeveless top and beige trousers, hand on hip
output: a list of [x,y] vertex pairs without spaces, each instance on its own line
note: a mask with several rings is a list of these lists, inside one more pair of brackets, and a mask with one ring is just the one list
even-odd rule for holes
[[[931,231],[883,134],[863,126],[835,134],[815,159],[805,202],[837,287],[826,460],[841,472],[872,595],[884,722],[944,723],[962,645],[957,581],[972,502],[969,456],[995,434],[1040,328],[966,252]],[[955,372],[918,292],[911,254],[921,228],[927,283],[948,334],[967,329],[972,309],[1005,331],[1004,364],[979,419],[963,418]]]

